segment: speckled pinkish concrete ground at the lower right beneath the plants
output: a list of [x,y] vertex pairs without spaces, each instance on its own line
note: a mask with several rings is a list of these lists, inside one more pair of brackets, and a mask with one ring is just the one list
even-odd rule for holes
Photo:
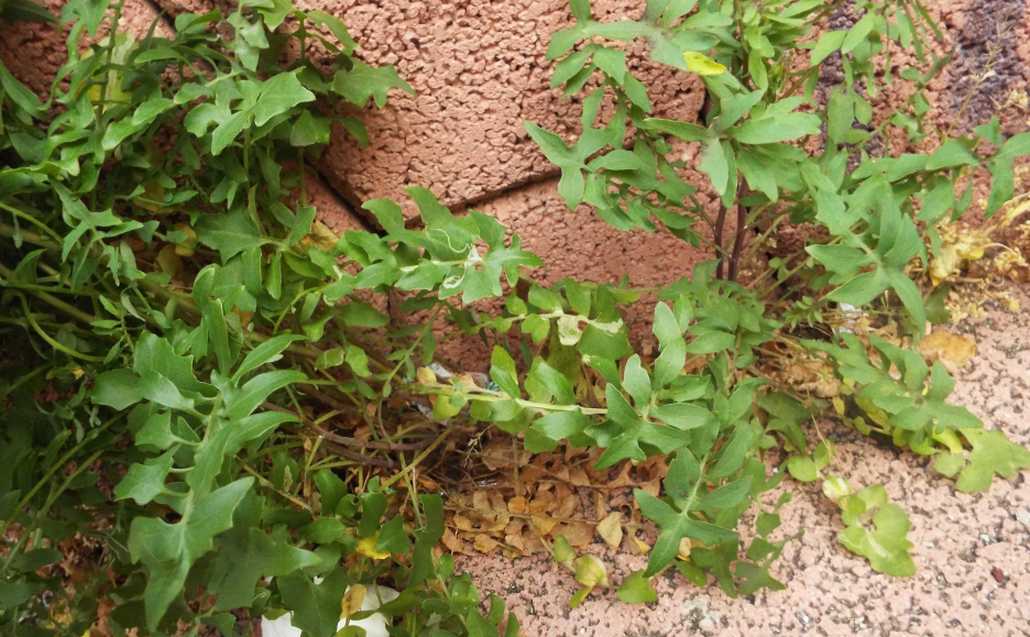
[[[1030,288],[1014,295],[1021,309],[991,309],[953,328],[974,338],[977,355],[958,374],[953,395],[1022,444],[1030,442]],[[824,433],[826,429],[823,430]],[[537,637],[673,637],[678,635],[1030,635],[1030,475],[996,479],[986,494],[961,494],[912,454],[878,445],[844,426],[835,473],[855,485],[883,483],[908,512],[918,571],[911,578],[873,572],[836,543],[835,507],[816,485],[789,481],[794,499],[781,510],[776,537],[795,535],[772,574],[786,591],[733,599],[715,585],[681,578],[658,582],[658,602],[623,604],[614,590],[571,610],[573,577],[546,557],[461,562],[481,591],[503,597],[524,633]],[[771,498],[766,496],[767,501]],[[645,559],[595,545],[616,584]]]

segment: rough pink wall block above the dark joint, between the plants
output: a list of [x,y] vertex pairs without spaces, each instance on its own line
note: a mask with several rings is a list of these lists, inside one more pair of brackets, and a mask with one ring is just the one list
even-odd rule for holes
[[[385,110],[369,113],[368,148],[355,149],[337,131],[323,169],[348,197],[399,197],[406,185],[417,183],[456,205],[552,172],[522,122],[569,134],[579,122],[579,105],[548,88],[552,64],[545,52],[550,34],[570,22],[565,0],[305,4],[341,16],[366,60],[397,66],[416,91],[394,93]],[[636,0],[595,4],[598,14],[622,15],[644,6]],[[659,109],[687,118],[697,112],[696,77],[648,65],[642,75],[652,79]]]

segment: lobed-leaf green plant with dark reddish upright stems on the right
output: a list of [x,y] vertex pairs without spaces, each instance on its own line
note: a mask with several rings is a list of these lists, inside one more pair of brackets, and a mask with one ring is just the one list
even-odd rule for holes
[[[897,130],[908,141],[923,143],[936,134],[924,130],[929,109],[924,89],[947,60],[930,54],[929,38],[940,34],[926,7],[918,0],[855,3],[853,26],[820,31],[842,3],[649,0],[642,20],[608,23],[592,18],[588,1],[571,4],[576,24],[554,35],[548,57],[556,60],[552,85],[571,95],[585,94],[583,132],[566,143],[526,125],[561,168],[559,192],[570,206],[586,203],[618,228],[672,232],[694,244],[708,243],[718,257],[695,271],[690,283],[670,286],[661,294],[692,311],[674,312],[678,324],[664,318],[667,306],[659,304],[655,313],[661,355],[653,374],[659,376],[666,357],[682,368],[683,337],[690,337],[687,354],[710,357],[700,374],[710,381],[709,393],[690,400],[716,414],[718,425],[694,421],[693,435],[699,439],[652,447],[675,451],[676,458],[664,498],[638,493],[641,510],[662,530],[645,573],[673,564],[676,546],[688,538],[729,548],[691,552],[678,562],[681,570],[710,570],[730,590],[732,576],[747,581],[754,565],[737,559],[735,535],[723,532],[765,482],[761,466],[749,470],[752,461],[742,464],[742,459],[754,458],[775,436],[793,452],[787,468],[797,479],[817,479],[829,463],[831,447],[822,442],[810,456],[801,429],[828,405],[764,377],[753,356],[763,345],[788,346],[796,361],[825,355],[839,378],[833,400],[838,415],[862,433],[934,457],[934,466],[946,475],[962,470],[961,490],[984,490],[995,471],[1010,477],[1030,466],[1026,449],[1000,432],[985,432],[965,408],[949,405],[951,375],[940,363],[931,369],[911,347],[925,334],[927,302],[920,282],[927,278],[930,258],[939,255],[937,228],[969,208],[968,175],[982,166],[990,170],[985,207],[990,216],[1012,198],[1015,159],[1030,154],[1030,134],[1005,139],[996,120],[971,136],[938,139],[932,152],[894,157],[872,150],[874,142]],[[652,116],[646,86],[629,70],[621,44],[634,40],[648,42],[652,62],[703,80],[708,100],[700,122]],[[892,52],[898,49],[914,51],[918,66],[895,69]],[[830,56],[837,57],[843,70],[837,82],[821,79]],[[874,116],[873,103],[885,88],[901,82],[911,92],[907,100]],[[606,100],[614,108],[603,114]],[[811,141],[816,135],[818,145]],[[699,146],[697,168],[707,182],[683,177],[689,168],[679,159],[685,144]],[[717,210],[705,208],[695,197],[698,189],[718,197]],[[726,237],[731,217],[734,228]],[[764,271],[758,265],[758,273],[742,284],[749,257],[760,254],[787,224],[814,229],[806,254],[777,260]],[[894,326],[903,336],[888,342],[837,329],[844,326],[834,325],[833,314],[849,307],[874,313],[874,327]],[[660,418],[659,410],[668,408],[661,405],[662,385],[647,384],[646,376],[630,378],[631,363],[622,387],[639,389],[637,415],[644,422]],[[765,393],[760,409],[754,409],[755,388],[766,383],[777,391]],[[629,428],[627,422],[620,425]],[[616,445],[620,438],[594,440],[608,447],[610,460],[640,457],[634,448]],[[714,463],[713,455],[718,455]],[[728,470],[727,457],[733,461]],[[742,484],[747,479],[750,488]],[[838,479],[829,478],[824,489],[834,492],[838,485],[831,480]],[[882,488],[872,487],[857,496],[833,497],[844,498],[849,525],[842,542],[869,557],[877,570],[911,574],[907,518],[896,505],[885,504],[885,497]],[[858,524],[866,509],[854,503],[882,507],[874,531]],[[891,521],[881,525],[886,517]],[[703,526],[713,522],[717,528]],[[864,547],[862,534],[868,533],[893,542],[897,552],[879,559]]]

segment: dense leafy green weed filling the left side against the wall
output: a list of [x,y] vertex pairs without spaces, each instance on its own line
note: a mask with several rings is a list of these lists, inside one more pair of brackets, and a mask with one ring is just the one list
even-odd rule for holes
[[434,551],[440,496],[399,507],[405,465],[377,449],[424,451],[425,423],[384,408],[390,442],[364,451],[323,425],[373,418],[425,356],[411,330],[367,348],[371,291],[472,301],[534,258],[439,206],[408,234],[384,208],[389,241],[314,221],[305,165],[334,124],[366,138],[341,103],[410,91],[337,18],[245,1],[133,37],[121,15],[64,6],[45,100],[0,71],[0,634],[240,635],[288,611],[356,636],[377,582],[394,631],[514,634]]

